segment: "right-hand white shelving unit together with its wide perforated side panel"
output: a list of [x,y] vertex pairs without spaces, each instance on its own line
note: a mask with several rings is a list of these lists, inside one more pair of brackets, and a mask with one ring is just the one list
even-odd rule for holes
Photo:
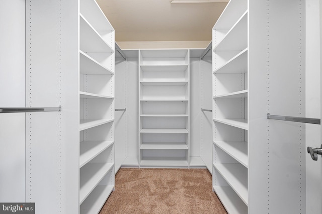
[[305,114],[305,4],[280,3],[230,0],[212,31],[213,190],[228,213],[305,209],[305,125],[266,118]]

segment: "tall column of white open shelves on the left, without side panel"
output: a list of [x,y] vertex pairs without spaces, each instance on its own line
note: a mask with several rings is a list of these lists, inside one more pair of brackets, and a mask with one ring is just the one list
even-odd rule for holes
[[98,213],[114,189],[114,29],[94,0],[79,25],[79,205]]

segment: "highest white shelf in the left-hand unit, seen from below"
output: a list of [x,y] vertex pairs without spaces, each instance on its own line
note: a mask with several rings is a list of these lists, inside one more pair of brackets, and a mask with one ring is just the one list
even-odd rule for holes
[[114,53],[113,48],[103,40],[100,34],[81,14],[79,14],[79,29],[79,44],[83,52]]

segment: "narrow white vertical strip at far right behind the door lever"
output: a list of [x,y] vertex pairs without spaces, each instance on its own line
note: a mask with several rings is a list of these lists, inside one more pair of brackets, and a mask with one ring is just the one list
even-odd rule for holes
[[[319,0],[306,0],[305,116],[320,118]],[[320,147],[320,126],[306,124],[306,147]],[[313,161],[306,153],[306,213],[321,213],[320,156]]]

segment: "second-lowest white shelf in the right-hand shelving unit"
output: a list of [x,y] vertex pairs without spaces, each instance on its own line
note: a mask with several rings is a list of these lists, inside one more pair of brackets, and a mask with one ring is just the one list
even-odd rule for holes
[[248,205],[248,170],[239,163],[214,163],[216,170]]

